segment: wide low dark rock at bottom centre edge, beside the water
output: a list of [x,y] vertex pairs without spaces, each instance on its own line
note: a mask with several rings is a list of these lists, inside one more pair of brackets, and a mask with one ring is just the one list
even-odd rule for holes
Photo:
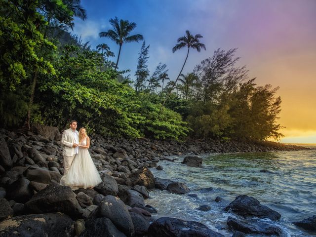
[[196,221],[161,217],[148,229],[148,237],[224,237]]

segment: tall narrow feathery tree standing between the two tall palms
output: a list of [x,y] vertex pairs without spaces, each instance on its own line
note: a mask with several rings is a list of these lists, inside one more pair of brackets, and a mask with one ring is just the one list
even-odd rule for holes
[[139,57],[138,57],[138,63],[137,63],[137,70],[135,72],[136,81],[135,81],[135,90],[136,92],[141,91],[144,88],[144,82],[149,76],[149,69],[148,69],[148,56],[149,53],[149,45],[146,46],[145,40],[142,44]]

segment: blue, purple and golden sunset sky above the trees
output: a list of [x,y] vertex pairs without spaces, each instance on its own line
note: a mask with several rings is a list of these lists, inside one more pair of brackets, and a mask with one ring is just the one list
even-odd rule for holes
[[[237,48],[237,66],[246,65],[258,85],[279,86],[284,143],[316,143],[316,0],[81,0],[87,20],[75,19],[73,34],[92,48],[118,45],[99,33],[111,29],[110,18],[137,24],[149,48],[149,70],[165,63],[170,79],[181,70],[187,50],[172,53],[189,30],[203,36],[206,50],[190,50],[182,73],[190,73],[217,48]],[[123,44],[119,70],[134,79],[142,42]],[[112,60],[116,62],[117,58]],[[126,75],[125,75],[126,76]]]

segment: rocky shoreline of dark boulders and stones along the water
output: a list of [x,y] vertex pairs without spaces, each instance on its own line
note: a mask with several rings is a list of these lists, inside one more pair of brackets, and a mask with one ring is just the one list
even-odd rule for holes
[[[221,234],[198,222],[169,217],[153,220],[151,214],[157,211],[145,205],[145,199],[150,196],[148,190],[158,188],[179,195],[189,190],[183,183],[155,179],[149,167],[156,167],[162,159],[172,161],[168,157],[173,155],[306,149],[271,142],[127,140],[92,134],[89,152],[103,182],[94,189],[72,191],[59,185],[64,170],[58,129],[37,126],[33,130],[35,133],[0,129],[0,235],[3,237],[220,237]],[[197,167],[201,162],[201,158],[194,156],[183,161],[185,165]],[[279,219],[277,212],[247,196],[236,197],[226,211]],[[301,227],[313,228],[315,221],[316,216],[311,217]],[[228,220],[226,228],[233,236],[254,231],[280,235],[280,230],[264,223],[234,218]]]

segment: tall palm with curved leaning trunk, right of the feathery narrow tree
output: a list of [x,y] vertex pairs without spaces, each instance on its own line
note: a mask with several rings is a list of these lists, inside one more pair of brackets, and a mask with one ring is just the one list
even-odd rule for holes
[[188,59],[188,56],[189,56],[189,51],[190,51],[190,48],[195,48],[197,49],[197,52],[200,52],[201,51],[201,48],[203,48],[204,50],[206,50],[205,48],[205,45],[203,43],[200,43],[199,42],[199,39],[200,38],[203,38],[200,34],[197,34],[195,36],[191,35],[190,31],[186,30],[186,36],[183,36],[183,37],[180,37],[178,39],[178,43],[172,48],[172,52],[174,53],[175,51],[177,51],[178,49],[181,49],[185,46],[188,47],[188,52],[187,52],[187,57],[186,57],[186,60],[184,60],[184,64],[181,68],[181,71],[177,77],[177,79],[175,80],[175,84],[177,83],[181,73],[182,73],[182,70],[184,68],[184,65],[186,64],[187,62],[187,59]]

